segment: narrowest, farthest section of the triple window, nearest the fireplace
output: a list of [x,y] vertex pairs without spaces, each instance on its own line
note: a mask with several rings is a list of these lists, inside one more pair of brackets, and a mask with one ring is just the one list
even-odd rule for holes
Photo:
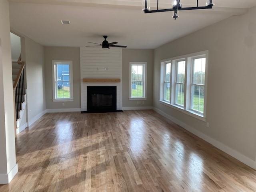
[[171,63],[165,63],[164,65],[164,100],[170,102]]

